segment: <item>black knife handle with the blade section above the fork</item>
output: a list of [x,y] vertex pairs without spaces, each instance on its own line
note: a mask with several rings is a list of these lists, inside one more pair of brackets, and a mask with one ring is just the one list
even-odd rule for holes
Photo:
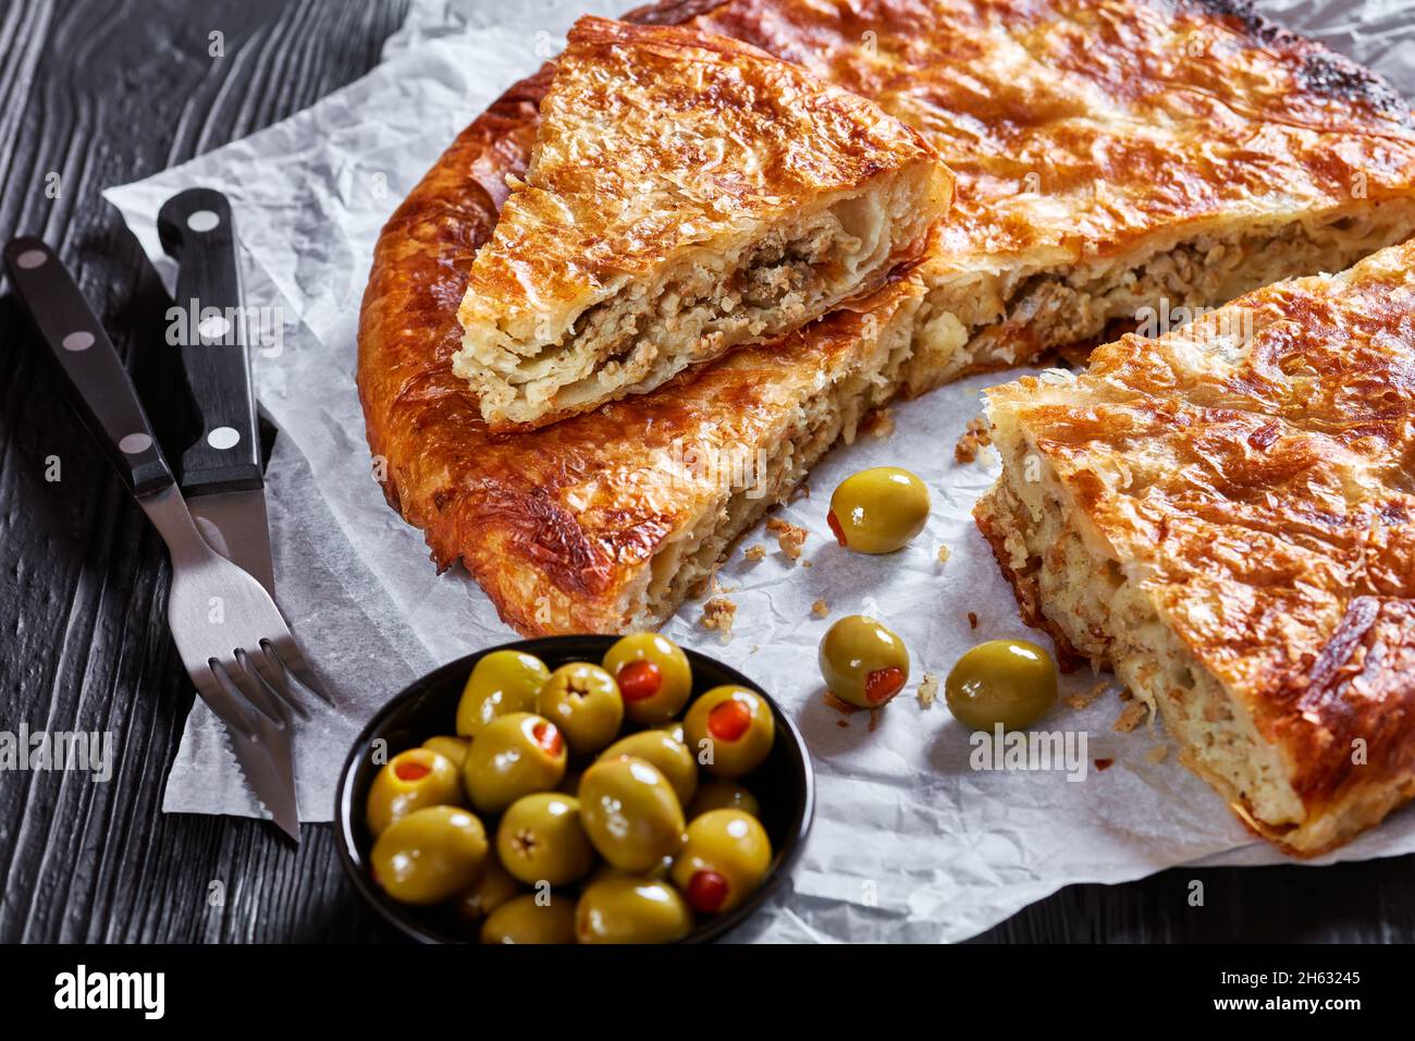
[[188,188],[157,214],[163,249],[177,262],[174,324],[201,419],[181,457],[181,491],[202,537],[275,596],[260,426],[250,380],[241,266],[231,203]]

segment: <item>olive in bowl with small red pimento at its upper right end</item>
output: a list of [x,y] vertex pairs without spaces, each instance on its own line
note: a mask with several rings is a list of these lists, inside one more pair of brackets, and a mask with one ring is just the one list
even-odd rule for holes
[[481,813],[501,813],[532,792],[549,792],[565,776],[566,751],[553,722],[531,712],[492,719],[467,749],[461,779]]

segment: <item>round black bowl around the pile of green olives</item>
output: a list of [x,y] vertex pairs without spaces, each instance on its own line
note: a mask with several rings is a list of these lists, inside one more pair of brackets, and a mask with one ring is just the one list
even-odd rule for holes
[[[460,943],[467,940],[458,935],[446,911],[436,908],[415,908],[389,899],[379,889],[368,871],[368,854],[374,846],[372,836],[364,823],[364,804],[378,766],[374,765],[372,745],[382,739],[388,742],[391,759],[406,748],[416,748],[436,734],[451,734],[457,715],[457,701],[461,688],[471,676],[473,666],[494,650],[524,650],[535,654],[550,669],[566,661],[600,661],[604,652],[614,643],[614,636],[548,636],[539,640],[521,640],[499,647],[487,647],[477,654],[451,661],[413,683],[389,701],[364,728],[344,761],[335,792],[334,820],[340,830],[340,860],[359,895],[388,922],[408,936],[423,943]],[[799,731],[781,711],[771,697],[734,669],[713,661],[695,650],[683,647],[693,667],[693,697],[712,687],[736,684],[757,691],[771,705],[775,717],[777,741],[767,761],[741,779],[761,803],[761,824],[771,837],[774,858],[766,881],[733,911],[705,919],[685,943],[706,943],[730,932],[761,906],[785,881],[791,865],[801,853],[811,817],[815,813],[815,772]],[[691,702],[689,702],[691,704]],[[495,831],[495,821],[485,821],[488,836]]]

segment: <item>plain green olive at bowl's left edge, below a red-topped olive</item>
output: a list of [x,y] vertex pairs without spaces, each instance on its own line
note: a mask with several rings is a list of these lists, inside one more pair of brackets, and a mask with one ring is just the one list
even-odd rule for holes
[[487,831],[470,810],[429,806],[374,843],[374,881],[400,904],[441,904],[471,888],[487,861]]

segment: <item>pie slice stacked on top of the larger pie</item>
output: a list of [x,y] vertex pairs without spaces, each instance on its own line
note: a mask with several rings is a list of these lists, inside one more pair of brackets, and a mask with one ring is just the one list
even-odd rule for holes
[[582,18],[471,266],[456,372],[492,429],[652,389],[877,289],[951,191],[916,130],[799,65]]

